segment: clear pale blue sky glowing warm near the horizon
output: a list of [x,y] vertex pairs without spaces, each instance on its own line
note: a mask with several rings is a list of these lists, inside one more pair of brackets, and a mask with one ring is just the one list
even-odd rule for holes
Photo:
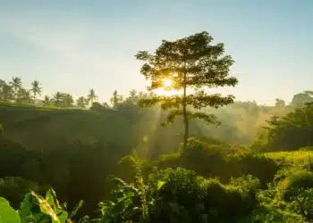
[[0,78],[45,95],[145,89],[139,50],[207,30],[235,60],[238,100],[313,90],[313,0],[0,0]]

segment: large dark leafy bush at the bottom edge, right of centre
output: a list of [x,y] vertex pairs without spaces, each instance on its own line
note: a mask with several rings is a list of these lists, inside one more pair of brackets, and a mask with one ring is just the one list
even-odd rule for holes
[[236,222],[257,203],[248,187],[225,186],[188,169],[166,169],[164,174],[160,179],[167,181],[157,191],[150,222]]

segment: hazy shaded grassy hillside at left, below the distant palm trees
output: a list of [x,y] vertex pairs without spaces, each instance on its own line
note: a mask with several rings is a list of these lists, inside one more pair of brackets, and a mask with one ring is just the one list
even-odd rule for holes
[[[122,143],[131,125],[114,112],[65,110],[0,103],[0,123],[4,134],[27,149],[54,148],[60,143],[80,139]],[[124,142],[125,143],[125,142]]]

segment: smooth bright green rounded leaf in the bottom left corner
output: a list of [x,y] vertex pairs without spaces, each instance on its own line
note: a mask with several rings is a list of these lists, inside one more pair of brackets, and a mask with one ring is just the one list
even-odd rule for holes
[[0,223],[21,223],[19,213],[3,197],[0,197]]

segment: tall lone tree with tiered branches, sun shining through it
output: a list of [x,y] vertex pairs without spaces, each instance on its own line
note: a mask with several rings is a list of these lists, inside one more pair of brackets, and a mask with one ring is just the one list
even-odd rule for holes
[[[136,58],[145,63],[141,74],[151,81],[149,90],[165,87],[164,80],[173,81],[166,90],[182,90],[182,95],[153,96],[140,101],[142,106],[161,103],[164,110],[171,110],[166,122],[172,123],[177,116],[182,116],[184,123],[183,145],[186,147],[189,136],[189,122],[194,119],[218,124],[216,116],[199,110],[211,106],[233,103],[234,96],[220,94],[208,95],[205,88],[236,86],[237,78],[228,77],[233,64],[230,55],[224,55],[224,44],[211,45],[213,38],[206,31],[173,42],[163,40],[154,54],[140,51]],[[187,91],[192,89],[193,94]]]

